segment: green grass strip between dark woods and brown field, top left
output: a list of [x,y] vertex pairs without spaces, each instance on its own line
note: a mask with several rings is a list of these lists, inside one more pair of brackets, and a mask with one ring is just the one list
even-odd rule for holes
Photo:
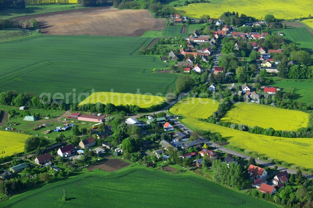
[[13,17],[28,16],[34,14],[42,14],[48,12],[59,12],[64,10],[72,9],[84,9],[89,7],[83,7],[80,4],[76,4],[77,0],[69,0],[70,3],[74,4],[48,4],[48,5],[33,5],[26,6],[22,9],[3,9],[1,10],[1,18],[9,19]]

